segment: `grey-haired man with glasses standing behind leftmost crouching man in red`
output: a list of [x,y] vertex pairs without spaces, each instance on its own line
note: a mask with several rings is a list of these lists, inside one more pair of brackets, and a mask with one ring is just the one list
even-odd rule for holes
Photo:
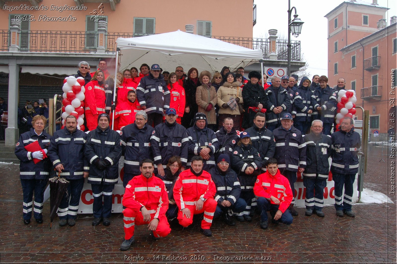
[[[158,146],[150,144],[154,128],[146,124],[147,119],[145,111],[140,110],[135,114],[135,122],[126,125],[120,132],[120,142],[124,154],[124,187],[134,176],[139,175],[139,162],[146,158],[153,160],[153,152],[158,151]],[[156,147],[155,150],[154,147]]]

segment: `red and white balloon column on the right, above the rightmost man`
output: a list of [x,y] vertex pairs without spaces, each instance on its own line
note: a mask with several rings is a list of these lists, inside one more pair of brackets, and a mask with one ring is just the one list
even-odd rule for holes
[[356,91],[354,90],[340,90],[337,99],[337,114],[336,114],[336,130],[339,130],[340,122],[343,118],[355,118],[356,114]]

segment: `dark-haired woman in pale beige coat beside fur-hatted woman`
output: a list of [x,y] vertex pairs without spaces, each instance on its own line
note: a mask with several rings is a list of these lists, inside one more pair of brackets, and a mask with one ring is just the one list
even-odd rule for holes
[[222,126],[225,118],[233,119],[233,127],[240,129],[240,110],[237,104],[243,103],[241,88],[236,81],[234,73],[227,73],[224,76],[224,84],[218,89],[219,126]]

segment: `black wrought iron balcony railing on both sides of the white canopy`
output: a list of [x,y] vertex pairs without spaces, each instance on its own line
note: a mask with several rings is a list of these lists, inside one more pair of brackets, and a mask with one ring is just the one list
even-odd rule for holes
[[[0,31],[0,51],[8,51],[10,46],[10,30]],[[64,53],[95,53],[98,48],[98,32],[94,31],[21,31],[24,42],[21,52],[64,52]],[[116,52],[116,40],[119,37],[141,37],[133,33],[106,32],[106,53]],[[269,40],[241,37],[211,36],[228,43],[250,49],[261,49],[264,59],[269,58]],[[287,60],[287,40],[276,40],[278,60]],[[301,42],[291,41],[291,60],[301,60]]]

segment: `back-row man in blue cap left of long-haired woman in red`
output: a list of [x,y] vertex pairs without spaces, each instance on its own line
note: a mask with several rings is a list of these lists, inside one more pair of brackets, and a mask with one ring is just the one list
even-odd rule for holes
[[141,108],[148,114],[148,125],[155,127],[163,122],[163,114],[170,108],[171,94],[158,64],[153,64],[149,75],[141,79],[137,98]]

